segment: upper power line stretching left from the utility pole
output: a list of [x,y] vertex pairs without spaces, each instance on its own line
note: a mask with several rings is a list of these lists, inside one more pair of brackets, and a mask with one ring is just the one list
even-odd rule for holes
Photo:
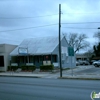
[[55,16],[58,14],[52,14],[52,15],[41,15],[41,16],[33,16],[33,17],[0,17],[0,19],[32,19],[32,18],[39,18],[39,17],[49,17],[49,16]]

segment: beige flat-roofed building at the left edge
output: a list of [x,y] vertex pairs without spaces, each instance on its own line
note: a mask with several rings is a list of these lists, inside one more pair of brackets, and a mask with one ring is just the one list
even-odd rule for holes
[[16,45],[0,44],[0,71],[6,71],[10,64],[9,54],[15,49]]

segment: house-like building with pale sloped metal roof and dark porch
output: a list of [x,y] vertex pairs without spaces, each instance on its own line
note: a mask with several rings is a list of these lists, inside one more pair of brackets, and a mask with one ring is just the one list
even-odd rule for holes
[[[11,53],[12,65],[40,65],[54,64],[59,67],[59,42],[58,37],[37,37],[25,39]],[[63,37],[61,39],[62,67],[75,67],[75,56],[68,56],[68,43]]]

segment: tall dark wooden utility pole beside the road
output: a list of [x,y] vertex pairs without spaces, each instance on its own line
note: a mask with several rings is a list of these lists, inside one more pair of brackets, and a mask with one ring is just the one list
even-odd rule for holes
[[61,4],[59,4],[59,65],[60,77],[62,77],[62,61],[61,61]]

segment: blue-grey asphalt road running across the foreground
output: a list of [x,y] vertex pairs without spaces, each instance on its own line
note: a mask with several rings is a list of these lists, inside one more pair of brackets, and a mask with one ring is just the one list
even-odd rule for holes
[[100,81],[0,77],[0,100],[91,100]]

